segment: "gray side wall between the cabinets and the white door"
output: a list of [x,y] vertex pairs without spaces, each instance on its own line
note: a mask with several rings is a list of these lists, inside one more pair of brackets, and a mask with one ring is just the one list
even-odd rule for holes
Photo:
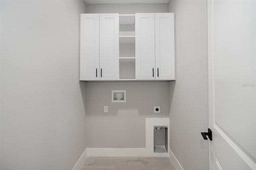
[[170,82],[170,148],[185,170],[208,169],[207,2],[170,1],[176,20],[176,81]]

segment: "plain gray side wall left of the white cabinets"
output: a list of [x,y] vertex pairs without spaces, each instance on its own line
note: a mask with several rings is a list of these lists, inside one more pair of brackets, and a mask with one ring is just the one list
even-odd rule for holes
[[1,170],[70,170],[85,150],[85,9],[84,1],[1,1]]

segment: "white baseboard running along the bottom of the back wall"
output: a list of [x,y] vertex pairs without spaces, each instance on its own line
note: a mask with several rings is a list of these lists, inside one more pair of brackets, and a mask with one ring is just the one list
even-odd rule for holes
[[146,148],[87,148],[87,156],[169,157],[169,154],[149,152]]

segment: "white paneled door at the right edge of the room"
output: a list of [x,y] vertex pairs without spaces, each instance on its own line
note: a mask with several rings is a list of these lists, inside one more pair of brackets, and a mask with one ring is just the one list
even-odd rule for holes
[[210,169],[256,169],[256,1],[208,1]]

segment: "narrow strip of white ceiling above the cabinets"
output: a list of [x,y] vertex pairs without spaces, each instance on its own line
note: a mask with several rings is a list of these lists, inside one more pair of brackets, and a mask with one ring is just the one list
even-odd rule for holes
[[84,0],[86,4],[162,4],[169,0]]

